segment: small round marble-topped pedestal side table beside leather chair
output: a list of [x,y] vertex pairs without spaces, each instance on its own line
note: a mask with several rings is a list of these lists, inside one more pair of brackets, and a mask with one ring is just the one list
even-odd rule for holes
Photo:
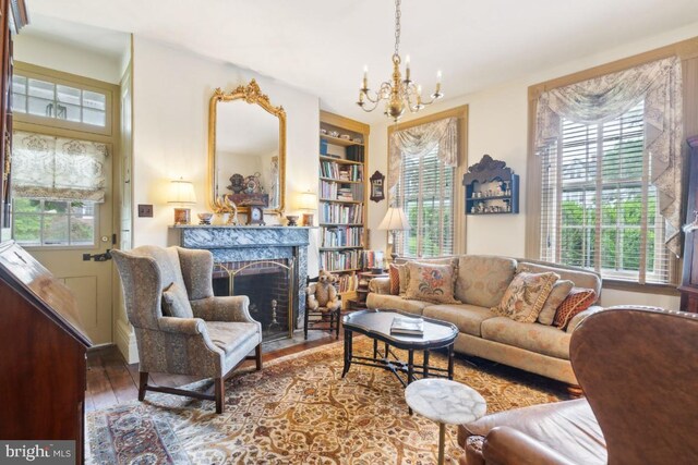
[[474,421],[488,411],[478,391],[447,379],[414,381],[405,390],[405,400],[414,412],[438,424],[438,465],[444,463],[446,425]]

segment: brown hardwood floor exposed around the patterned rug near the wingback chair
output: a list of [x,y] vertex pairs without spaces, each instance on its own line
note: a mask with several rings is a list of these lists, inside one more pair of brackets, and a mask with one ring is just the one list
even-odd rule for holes
[[[341,339],[341,333],[339,335]],[[337,341],[335,334],[326,331],[310,331],[308,341],[303,333],[293,339],[273,341],[264,344],[262,359],[270,362],[285,355],[294,354],[306,348],[330,344]],[[253,365],[248,360],[243,366]],[[151,374],[151,380],[156,384],[181,387],[200,378]],[[125,404],[139,399],[139,364],[128,365],[116,345],[99,347],[87,353],[87,392],[85,393],[85,412],[108,408]]]

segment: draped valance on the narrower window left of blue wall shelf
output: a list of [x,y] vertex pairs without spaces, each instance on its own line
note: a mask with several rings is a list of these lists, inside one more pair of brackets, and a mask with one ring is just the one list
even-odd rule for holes
[[447,167],[458,164],[458,119],[446,118],[396,131],[389,140],[388,189],[400,179],[402,157],[423,157],[438,146],[437,157]]

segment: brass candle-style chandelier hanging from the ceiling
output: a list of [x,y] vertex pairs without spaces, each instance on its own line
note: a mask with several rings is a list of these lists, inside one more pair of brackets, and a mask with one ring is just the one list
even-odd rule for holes
[[400,0],[395,0],[395,52],[393,53],[393,77],[381,84],[377,91],[370,94],[369,89],[369,70],[363,69],[363,81],[359,89],[359,101],[357,105],[363,111],[370,112],[376,109],[378,103],[385,102],[385,114],[397,122],[405,109],[408,108],[412,113],[418,112],[428,105],[432,105],[444,96],[441,91],[441,71],[436,73],[436,89],[431,95],[431,100],[422,99],[422,86],[414,84],[410,79],[410,57],[405,61],[405,79],[400,73]]

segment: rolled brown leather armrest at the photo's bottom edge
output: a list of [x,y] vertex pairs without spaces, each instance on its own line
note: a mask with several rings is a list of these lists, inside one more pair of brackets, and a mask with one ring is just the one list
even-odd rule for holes
[[485,463],[497,465],[574,465],[557,451],[506,426],[493,428],[488,433],[482,456]]

